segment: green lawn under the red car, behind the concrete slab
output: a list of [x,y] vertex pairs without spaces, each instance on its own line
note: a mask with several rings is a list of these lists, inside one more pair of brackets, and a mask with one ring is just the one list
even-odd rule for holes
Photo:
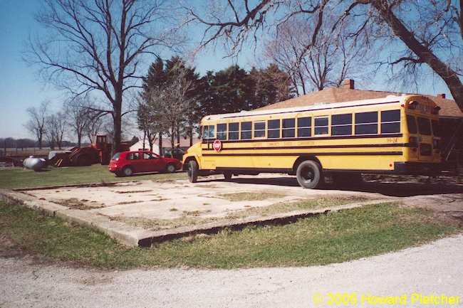
[[0,188],[29,188],[71,184],[108,183],[120,181],[186,179],[184,172],[174,174],[147,174],[118,178],[108,171],[108,166],[94,164],[84,167],[48,168],[46,171],[14,168],[0,170]]

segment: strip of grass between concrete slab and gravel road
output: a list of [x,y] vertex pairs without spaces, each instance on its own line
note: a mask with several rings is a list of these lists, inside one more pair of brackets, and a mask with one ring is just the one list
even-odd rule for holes
[[322,265],[387,253],[462,232],[418,208],[391,203],[126,248],[102,233],[0,203],[0,255],[26,251],[97,267],[274,267]]

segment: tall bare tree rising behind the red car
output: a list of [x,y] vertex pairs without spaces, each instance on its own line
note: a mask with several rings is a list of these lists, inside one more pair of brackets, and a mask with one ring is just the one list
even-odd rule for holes
[[46,81],[74,96],[98,90],[113,116],[115,150],[121,141],[124,97],[137,87],[144,55],[177,46],[167,1],[45,0],[37,14],[46,36],[28,41],[25,60],[38,64]]

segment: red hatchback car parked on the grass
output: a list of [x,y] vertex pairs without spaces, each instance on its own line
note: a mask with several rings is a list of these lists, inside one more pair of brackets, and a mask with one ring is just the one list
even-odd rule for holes
[[138,172],[164,171],[168,173],[182,169],[182,161],[161,157],[148,151],[130,151],[114,154],[108,169],[116,176],[131,176]]

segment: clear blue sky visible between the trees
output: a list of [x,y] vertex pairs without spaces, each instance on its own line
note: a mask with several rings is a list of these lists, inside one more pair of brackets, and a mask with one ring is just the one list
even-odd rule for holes
[[[28,120],[26,109],[38,106],[43,100],[50,100],[53,107],[63,101],[63,93],[53,85],[46,85],[37,74],[37,67],[28,67],[21,60],[24,42],[30,31],[36,31],[38,24],[33,15],[41,6],[40,0],[2,0],[0,1],[0,137],[33,136],[24,128]],[[233,58],[223,58],[220,51],[208,51],[197,58],[197,71],[204,74],[207,70],[220,70],[236,62]],[[251,53],[239,55],[241,66],[252,63]],[[248,65],[246,68],[249,68]],[[146,68],[147,69],[147,68]],[[383,80],[368,85],[368,90],[392,90],[385,88]],[[442,82],[434,82],[432,75],[423,85],[424,94],[436,95],[449,91]]]

